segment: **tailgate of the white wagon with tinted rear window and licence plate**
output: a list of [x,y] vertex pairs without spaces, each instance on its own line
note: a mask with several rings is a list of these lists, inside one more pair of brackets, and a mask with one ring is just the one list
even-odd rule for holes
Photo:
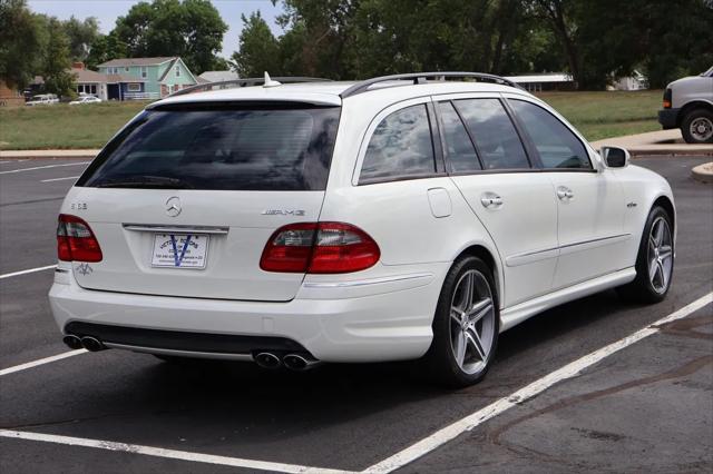
[[80,286],[284,302],[303,274],[260,268],[281,226],[316,221],[339,107],[183,105],[148,111],[107,146],[62,213],[85,219],[104,258]]

